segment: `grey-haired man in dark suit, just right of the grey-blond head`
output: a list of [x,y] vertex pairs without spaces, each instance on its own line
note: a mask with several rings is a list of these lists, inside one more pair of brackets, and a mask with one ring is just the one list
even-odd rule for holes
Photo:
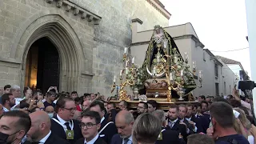
[[178,138],[178,132],[174,130],[166,130],[166,117],[165,112],[163,110],[154,110],[152,113],[156,118],[159,118],[162,125],[162,134],[158,137],[158,141],[156,144],[164,144],[164,143],[184,143],[185,141],[181,138]]

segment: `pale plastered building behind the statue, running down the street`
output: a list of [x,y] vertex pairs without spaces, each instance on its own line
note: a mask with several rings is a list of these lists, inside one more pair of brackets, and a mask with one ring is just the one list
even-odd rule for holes
[[[135,57],[136,63],[142,66],[148,43],[153,34],[153,30],[138,31],[142,21],[138,18],[132,23],[132,44],[131,54]],[[157,25],[157,23],[156,23]],[[191,23],[178,26],[164,27],[178,46],[178,50],[184,57],[184,53],[189,54],[189,64],[197,63],[197,70],[202,70],[202,88],[193,90],[194,96],[198,95],[227,95],[231,94],[234,87],[235,74],[221,59],[218,59],[210,52],[203,49],[204,45],[200,42]],[[199,86],[198,80],[195,80]]]

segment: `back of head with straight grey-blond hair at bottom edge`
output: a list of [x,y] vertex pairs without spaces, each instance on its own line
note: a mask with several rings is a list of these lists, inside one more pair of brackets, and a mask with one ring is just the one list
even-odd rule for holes
[[140,114],[132,130],[133,144],[154,144],[162,130],[160,123],[152,114]]

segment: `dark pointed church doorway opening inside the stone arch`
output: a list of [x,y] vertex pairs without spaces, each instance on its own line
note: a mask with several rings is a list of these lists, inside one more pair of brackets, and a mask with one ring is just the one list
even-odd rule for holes
[[30,46],[26,57],[25,86],[46,93],[50,86],[59,87],[60,60],[56,46],[40,38]]

